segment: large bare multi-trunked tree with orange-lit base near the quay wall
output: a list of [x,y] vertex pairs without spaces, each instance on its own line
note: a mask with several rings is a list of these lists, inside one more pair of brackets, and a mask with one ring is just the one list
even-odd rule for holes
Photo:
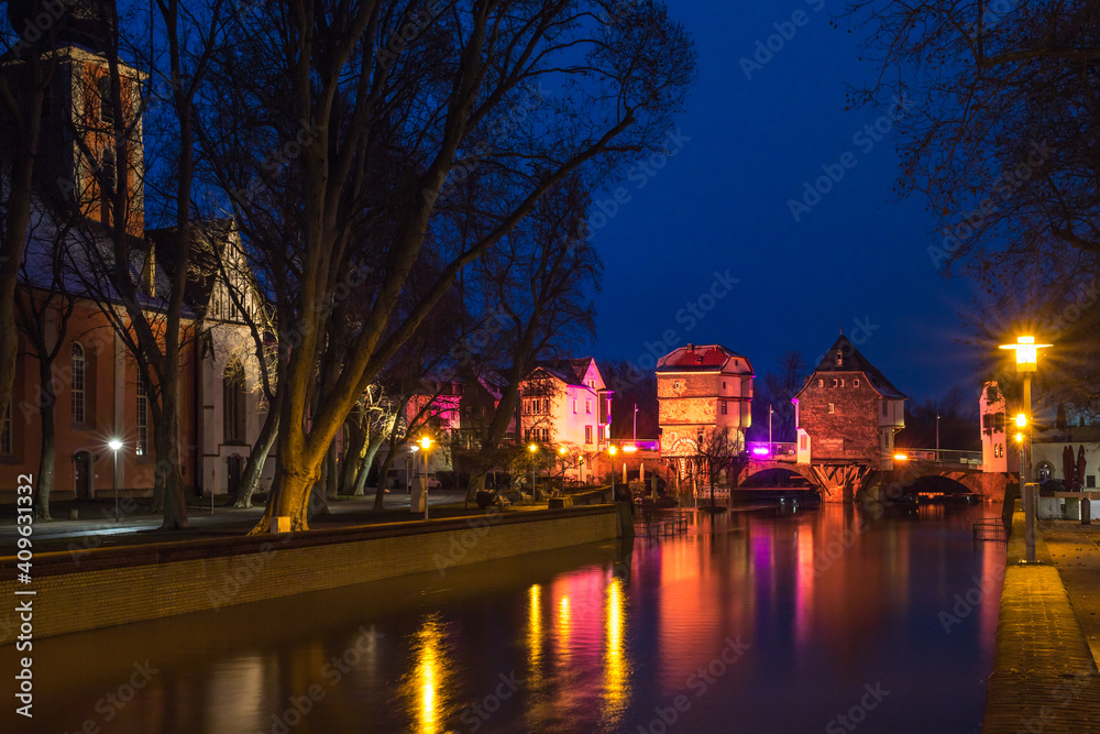
[[[293,287],[282,288],[279,319],[293,316],[298,330],[293,349],[285,344],[280,374],[280,481],[257,530],[270,515],[307,527],[309,487],[333,436],[460,271],[569,175],[662,144],[694,75],[691,43],[650,0],[614,15],[609,7],[442,2],[417,20],[420,8],[405,2],[316,0],[242,12],[234,63],[226,67],[232,84],[211,107],[218,157],[234,162],[222,167],[228,187],[248,167],[249,151],[258,167],[257,140],[305,131],[288,166],[300,229],[263,248],[286,251],[295,269]],[[407,30],[414,20],[418,34]],[[400,53],[391,51],[410,35]],[[561,92],[537,105],[540,84]],[[476,212],[472,235],[429,238],[443,226],[437,207],[463,197]],[[240,217],[250,215],[239,200],[234,206]],[[373,299],[307,425],[326,304],[376,226],[393,237],[376,241]],[[438,276],[399,315],[398,296],[424,258],[438,264]]]

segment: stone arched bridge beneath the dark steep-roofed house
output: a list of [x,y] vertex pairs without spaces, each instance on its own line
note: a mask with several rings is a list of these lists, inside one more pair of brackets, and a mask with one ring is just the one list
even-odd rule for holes
[[[881,469],[878,457],[864,461],[799,463],[794,443],[758,443],[750,445],[749,461],[739,483],[763,471],[781,469],[820,486],[823,500],[838,502],[853,501],[860,495],[875,499],[886,491],[890,494],[998,494],[1003,492],[1007,482],[1000,474],[982,473],[981,451],[899,449],[892,464],[893,469]],[[925,476],[950,481],[926,487],[930,483],[919,482]]]

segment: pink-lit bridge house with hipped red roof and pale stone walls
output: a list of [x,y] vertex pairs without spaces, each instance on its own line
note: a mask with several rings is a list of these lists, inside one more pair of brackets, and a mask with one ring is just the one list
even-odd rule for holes
[[749,360],[722,344],[688,344],[658,360],[661,456],[694,457],[700,431],[724,426],[744,449],[754,376]]

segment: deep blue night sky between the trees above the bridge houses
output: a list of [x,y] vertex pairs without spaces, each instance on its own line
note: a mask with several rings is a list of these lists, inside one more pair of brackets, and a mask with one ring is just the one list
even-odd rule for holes
[[[691,140],[644,188],[623,182],[630,200],[595,235],[606,271],[592,352],[637,362],[674,329],[673,347],[718,342],[763,375],[788,350],[814,360],[859,319],[877,327],[860,351],[914,401],[954,384],[977,399],[974,352],[957,342],[969,285],[934,267],[923,198],[891,193],[892,134],[869,151],[867,138],[854,140],[884,110],[845,111],[845,84],[875,69],[859,62],[845,22],[831,25],[842,0],[669,7],[698,52],[698,83],[678,122]],[[740,57],[800,10],[805,24],[746,79]],[[795,222],[788,200],[846,152],[855,167]],[[678,313],[727,270],[740,282],[688,331]]]

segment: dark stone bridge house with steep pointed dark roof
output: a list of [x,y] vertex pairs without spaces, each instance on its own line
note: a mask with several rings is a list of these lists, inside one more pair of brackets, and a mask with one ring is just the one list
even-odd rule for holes
[[891,469],[908,399],[840,335],[792,398],[799,463],[849,461]]

